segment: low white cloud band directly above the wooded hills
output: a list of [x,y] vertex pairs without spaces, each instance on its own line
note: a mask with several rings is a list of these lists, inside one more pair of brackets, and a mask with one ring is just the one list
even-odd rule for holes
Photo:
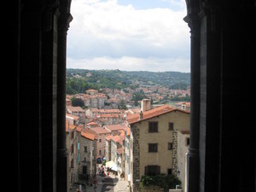
[[96,57],[93,59],[73,59],[67,57],[67,68],[119,69],[122,71],[184,72],[189,73],[189,60],[160,59],[155,57]]

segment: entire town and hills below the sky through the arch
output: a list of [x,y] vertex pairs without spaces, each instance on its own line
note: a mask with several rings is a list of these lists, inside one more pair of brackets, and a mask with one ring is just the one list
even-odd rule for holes
[[184,191],[190,73],[67,68],[68,188]]

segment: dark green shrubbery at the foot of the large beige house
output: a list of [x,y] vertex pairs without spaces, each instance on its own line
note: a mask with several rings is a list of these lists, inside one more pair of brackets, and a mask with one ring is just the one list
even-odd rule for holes
[[181,181],[173,175],[159,174],[156,176],[143,176],[141,179],[143,187],[158,186],[162,189],[175,189]]

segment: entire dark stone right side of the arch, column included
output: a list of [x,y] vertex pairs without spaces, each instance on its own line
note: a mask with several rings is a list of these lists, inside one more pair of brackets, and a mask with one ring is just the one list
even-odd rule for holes
[[[189,192],[253,191],[255,149],[248,144],[253,143],[253,137],[241,137],[239,133],[241,127],[253,125],[253,116],[250,107],[231,103],[241,102],[243,94],[234,93],[243,86],[251,86],[255,74],[241,63],[255,61],[252,18],[256,15],[256,3],[229,0],[186,0],[186,3],[184,21],[191,29],[187,189]],[[244,92],[247,93],[248,90]],[[238,138],[242,144],[235,149],[232,143]],[[237,150],[245,148],[251,148],[252,154],[236,158]]]

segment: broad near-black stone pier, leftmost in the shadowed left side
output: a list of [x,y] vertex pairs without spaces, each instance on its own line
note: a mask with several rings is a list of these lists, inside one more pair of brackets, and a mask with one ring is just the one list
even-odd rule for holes
[[42,191],[41,6],[20,6],[19,191]]

